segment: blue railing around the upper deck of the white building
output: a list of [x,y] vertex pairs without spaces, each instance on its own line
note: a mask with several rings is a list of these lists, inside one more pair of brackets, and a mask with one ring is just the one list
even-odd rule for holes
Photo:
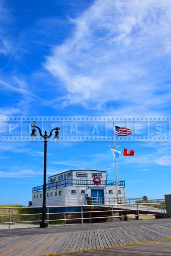
[[[52,183],[46,184],[46,190],[50,189],[56,189],[58,186],[73,186],[73,185],[84,185],[84,186],[90,186],[94,185],[93,180],[73,180],[73,179],[64,179],[59,180]],[[115,180],[101,180],[101,183],[99,186],[116,186]],[[125,187],[125,180],[118,180],[118,186]],[[32,189],[32,192],[39,192],[43,191],[43,185],[42,186],[36,186]]]

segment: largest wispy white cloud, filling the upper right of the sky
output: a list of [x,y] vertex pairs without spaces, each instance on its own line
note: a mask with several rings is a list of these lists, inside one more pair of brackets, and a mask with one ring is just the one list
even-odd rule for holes
[[130,111],[151,114],[168,104],[170,95],[159,93],[168,67],[157,63],[171,55],[169,0],[96,0],[70,21],[72,35],[44,63],[66,90],[49,105],[102,110],[120,101],[122,112],[131,105]]

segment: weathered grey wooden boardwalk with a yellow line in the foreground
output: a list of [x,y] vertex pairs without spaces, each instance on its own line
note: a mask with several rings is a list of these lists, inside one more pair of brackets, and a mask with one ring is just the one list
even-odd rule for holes
[[[151,240],[153,242],[147,243]],[[156,252],[153,247],[158,248],[154,248]],[[60,253],[72,256],[171,256],[171,219],[0,230],[0,256],[50,256]]]

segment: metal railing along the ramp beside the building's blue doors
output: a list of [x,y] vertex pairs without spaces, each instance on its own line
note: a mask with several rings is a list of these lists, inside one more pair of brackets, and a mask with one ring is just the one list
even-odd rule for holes
[[142,198],[96,198],[87,197],[87,205],[99,205],[99,204],[142,204],[142,203],[163,203],[165,204],[165,199],[146,199]]

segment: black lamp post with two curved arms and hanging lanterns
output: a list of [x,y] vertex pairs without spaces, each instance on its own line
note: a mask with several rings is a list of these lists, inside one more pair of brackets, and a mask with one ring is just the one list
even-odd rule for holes
[[43,205],[42,205],[42,221],[40,223],[40,227],[48,227],[48,222],[46,220],[46,156],[47,156],[47,139],[49,139],[52,136],[52,132],[55,131],[55,140],[58,141],[59,139],[59,127],[56,127],[50,131],[49,136],[47,135],[47,131],[44,132],[44,135],[42,135],[41,129],[35,125],[35,121],[33,121],[32,126],[32,139],[35,139],[36,137],[36,129],[38,129],[40,136],[44,138],[44,173],[43,173]]

